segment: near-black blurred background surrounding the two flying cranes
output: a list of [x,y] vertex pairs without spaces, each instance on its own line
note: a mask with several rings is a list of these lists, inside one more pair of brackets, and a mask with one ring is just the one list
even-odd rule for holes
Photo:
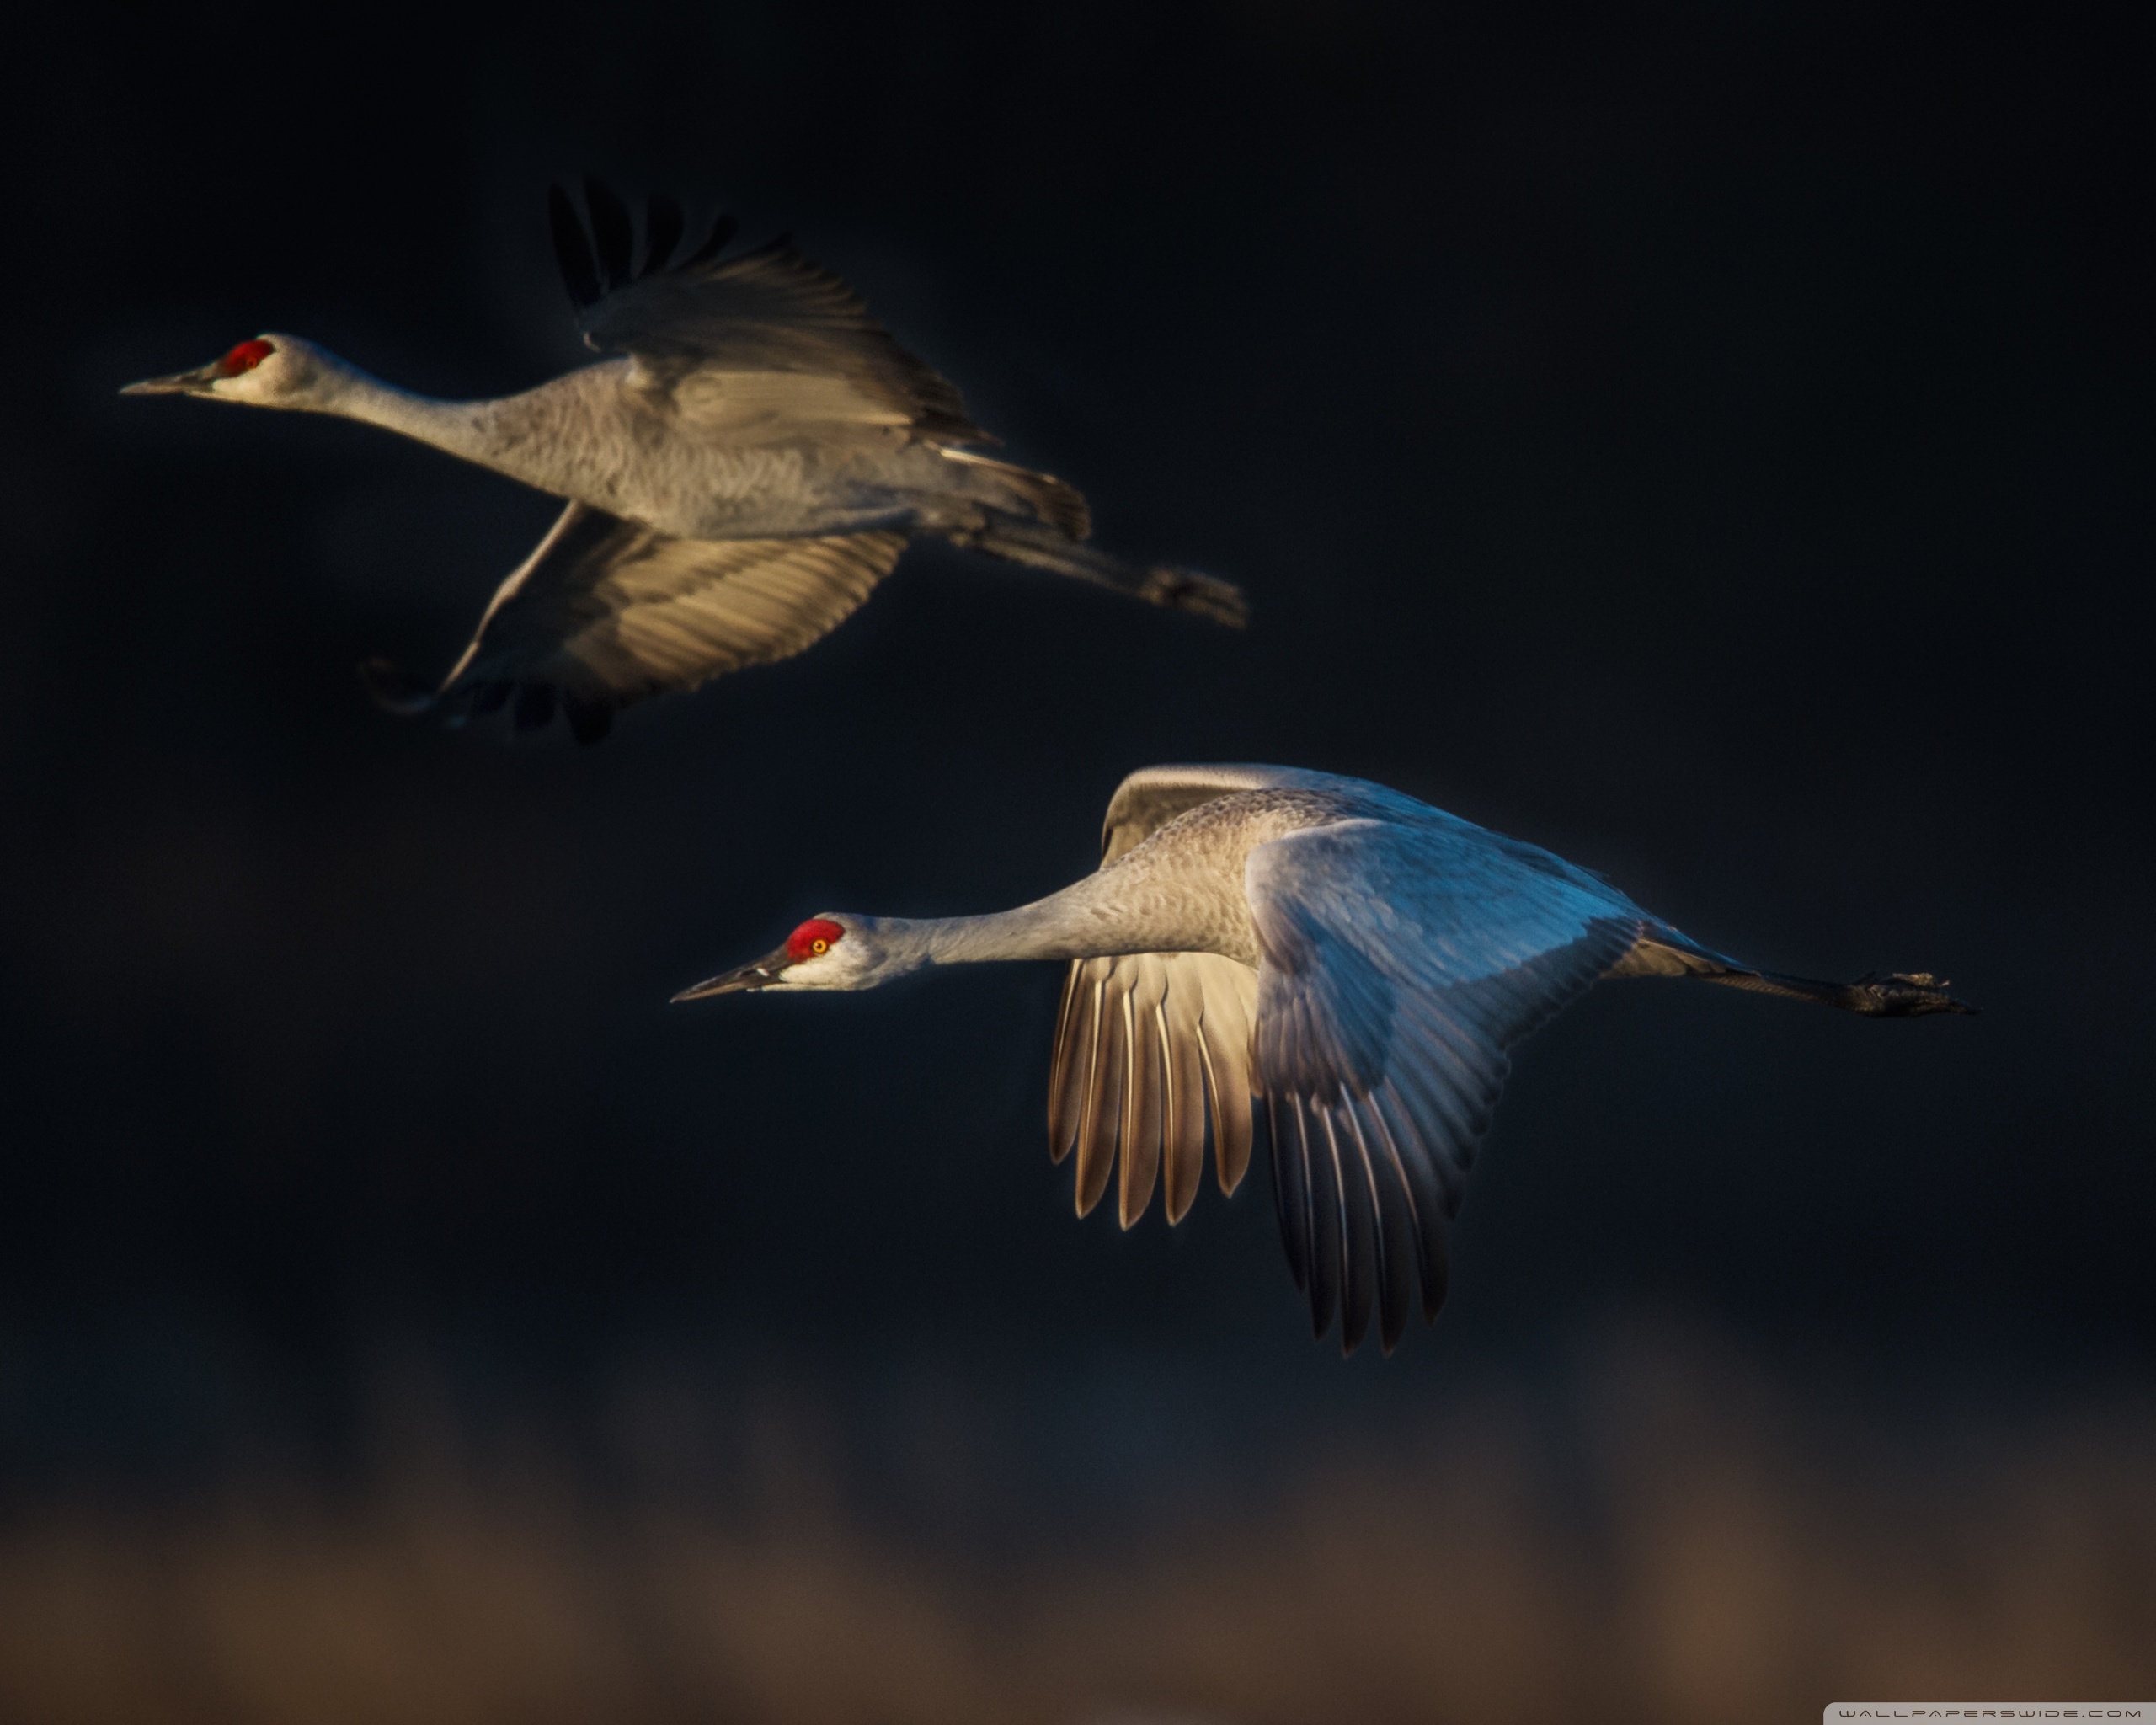
[[[1910,1477],[1925,1397],[2005,1451],[2145,1406],[2132,43],[1960,9],[1503,17],[30,26],[9,1527],[364,1492],[420,1427],[474,1490],[502,1432],[578,1501],[705,1490],[740,1410],[793,1397],[847,1527],[1031,1550],[1199,1479],[1255,1516],[1317,1453],[1449,1430],[1466,1386],[1542,1408],[1563,1527],[1563,1455],[1606,1436],[1580,1384],[1641,1335],[1716,1361],[1708,1402],[1783,1384]],[[793,231],[1106,546],[1240,580],[1255,627],[916,548],[804,658],[599,748],[371,709],[351,666],[444,664],[554,505],[114,390],[265,328],[436,395],[539,382],[578,360],[543,190],[582,170]],[[1179,759],[1380,778],[1718,949],[1932,968],[1986,1016],[1598,990],[1516,1061],[1436,1333],[1343,1365],[1261,1171],[1173,1233],[1069,1218],[1054,968],[666,1007],[813,910],[1052,891],[1115,783]]]

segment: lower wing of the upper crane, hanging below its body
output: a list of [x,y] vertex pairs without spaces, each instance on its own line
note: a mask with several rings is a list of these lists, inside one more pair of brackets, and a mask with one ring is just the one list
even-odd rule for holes
[[399,712],[494,712],[520,731],[569,718],[597,742],[647,694],[789,658],[843,623],[890,574],[903,533],[826,539],[668,539],[571,502],[505,580],[440,688],[375,662],[369,684]]

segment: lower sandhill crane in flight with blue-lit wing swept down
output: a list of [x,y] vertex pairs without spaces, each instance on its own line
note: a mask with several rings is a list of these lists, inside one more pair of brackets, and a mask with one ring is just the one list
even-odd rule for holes
[[1315,1335],[1371,1302],[1391,1352],[1505,1082],[1505,1050],[1598,977],[1697,977],[1871,1018],[1973,1011],[1930,975],[1820,983],[1753,970],[1587,869],[1326,772],[1173,765],[1108,804],[1100,869],[992,916],[826,910],[755,964],[677,994],[875,988],[934,964],[1067,960],[1048,1149],[1084,1216],[1121,1162],[1123,1227],[1156,1177],[1169,1223],[1222,1192],[1266,1104],[1272,1195]]

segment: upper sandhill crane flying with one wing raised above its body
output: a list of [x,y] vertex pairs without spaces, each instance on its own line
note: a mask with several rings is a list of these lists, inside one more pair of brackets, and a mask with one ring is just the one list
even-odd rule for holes
[[591,239],[554,188],[554,248],[584,343],[610,358],[535,390],[436,401],[274,332],[123,390],[341,414],[569,500],[448,677],[362,666],[384,705],[461,718],[515,696],[520,731],[558,705],[593,742],[632,701],[819,640],[916,535],[1244,621],[1229,582],[1087,546],[1084,498],[981,455],[994,440],[959,392],[789,242],[724,257],[722,216],[671,263],[683,216],[658,196],[634,270],[630,211],[597,181],[584,201]]

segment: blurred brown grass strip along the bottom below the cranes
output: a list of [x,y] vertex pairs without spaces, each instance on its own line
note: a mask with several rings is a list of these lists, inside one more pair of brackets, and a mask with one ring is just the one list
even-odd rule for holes
[[1826,1397],[1634,1326],[1378,1440],[1188,1384],[658,1374],[595,1466],[423,1380],[356,1488],[17,1505],[0,1714],[1733,1721],[2156,1678],[2145,1395]]

